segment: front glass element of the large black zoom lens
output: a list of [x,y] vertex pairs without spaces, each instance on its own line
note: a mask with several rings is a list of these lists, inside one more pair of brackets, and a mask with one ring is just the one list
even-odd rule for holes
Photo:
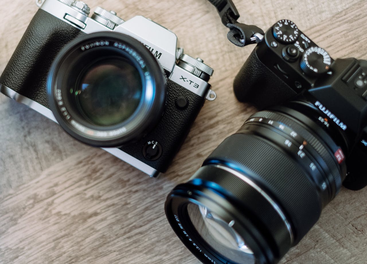
[[244,239],[232,228],[234,221],[225,222],[210,209],[190,203],[187,207],[190,220],[212,249],[226,259],[239,264],[254,264],[255,258]]

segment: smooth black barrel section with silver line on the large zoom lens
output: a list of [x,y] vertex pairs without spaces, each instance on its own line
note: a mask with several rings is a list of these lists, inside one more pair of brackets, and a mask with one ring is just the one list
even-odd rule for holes
[[[237,139],[233,143],[236,143]],[[259,234],[252,233],[253,239],[257,242],[256,245],[248,246],[251,249],[262,249],[264,252],[266,251],[264,249],[271,248],[272,256],[268,258],[277,259],[283,256],[292,244],[293,233],[290,223],[287,216],[281,212],[281,208],[278,208],[277,201],[261,192],[262,186],[257,185],[249,176],[252,173],[247,171],[246,174],[247,177],[244,177],[224,164],[208,164],[201,167],[189,183],[197,185],[197,179],[200,179],[201,186],[225,196],[238,210],[232,212],[239,219],[237,221],[246,218],[247,225],[251,223],[251,227],[247,226],[247,232],[251,234],[252,230],[258,230],[261,234],[262,239],[259,239]]]

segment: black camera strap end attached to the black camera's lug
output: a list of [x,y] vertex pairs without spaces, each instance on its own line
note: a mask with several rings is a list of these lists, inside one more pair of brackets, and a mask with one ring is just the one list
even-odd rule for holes
[[264,31],[257,26],[237,22],[240,15],[232,0],[208,1],[217,8],[223,25],[229,28],[227,38],[236,46],[244,47],[249,44],[257,43],[260,40],[259,35],[264,35]]

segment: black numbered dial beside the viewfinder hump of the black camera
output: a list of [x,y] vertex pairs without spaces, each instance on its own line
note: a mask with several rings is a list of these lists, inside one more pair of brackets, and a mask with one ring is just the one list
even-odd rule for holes
[[302,56],[301,69],[308,75],[317,76],[330,70],[331,57],[323,48],[310,47]]

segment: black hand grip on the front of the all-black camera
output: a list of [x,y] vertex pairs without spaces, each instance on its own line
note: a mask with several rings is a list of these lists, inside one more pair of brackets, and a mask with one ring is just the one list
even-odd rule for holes
[[264,108],[279,104],[296,95],[257,55],[256,47],[233,81],[237,100]]

